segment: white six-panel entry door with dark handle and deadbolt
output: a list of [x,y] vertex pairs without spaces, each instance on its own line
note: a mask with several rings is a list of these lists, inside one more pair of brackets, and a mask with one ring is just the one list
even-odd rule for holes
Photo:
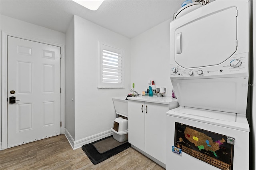
[[8,36],[8,147],[60,134],[60,116],[60,47]]

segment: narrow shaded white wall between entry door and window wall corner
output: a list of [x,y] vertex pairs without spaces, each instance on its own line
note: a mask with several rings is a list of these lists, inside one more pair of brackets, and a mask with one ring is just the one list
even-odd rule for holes
[[74,18],[66,31],[66,130],[75,138],[75,27]]

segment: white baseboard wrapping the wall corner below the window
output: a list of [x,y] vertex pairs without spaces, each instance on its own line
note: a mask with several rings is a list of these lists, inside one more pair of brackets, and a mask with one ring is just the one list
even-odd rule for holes
[[112,132],[112,130],[106,130],[104,132],[94,134],[92,136],[88,136],[86,138],[82,138],[82,139],[79,139],[79,140],[76,140],[76,141],[72,138],[72,136],[70,135],[68,130],[66,130],[66,128],[65,128],[64,134],[65,134],[66,138],[68,139],[68,142],[70,143],[73,150],[75,150],[75,149],[81,148],[84,144],[89,144],[89,143],[94,142],[96,140],[100,140],[102,138],[111,136],[113,134],[113,132]]

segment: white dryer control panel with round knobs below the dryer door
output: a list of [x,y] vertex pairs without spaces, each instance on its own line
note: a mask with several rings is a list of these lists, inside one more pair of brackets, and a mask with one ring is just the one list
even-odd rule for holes
[[219,65],[183,68],[177,63],[170,64],[170,77],[178,79],[198,79],[214,77],[248,76],[248,53],[232,55]]

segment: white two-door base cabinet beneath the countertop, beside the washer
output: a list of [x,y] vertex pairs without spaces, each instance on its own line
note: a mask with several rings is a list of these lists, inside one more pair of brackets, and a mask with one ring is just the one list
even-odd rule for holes
[[166,112],[175,107],[129,100],[129,143],[166,164]]

